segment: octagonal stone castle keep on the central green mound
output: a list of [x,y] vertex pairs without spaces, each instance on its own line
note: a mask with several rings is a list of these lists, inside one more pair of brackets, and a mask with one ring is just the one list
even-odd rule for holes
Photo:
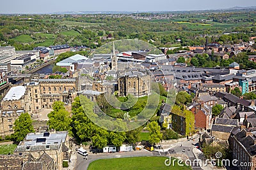
[[142,97],[150,94],[150,75],[138,71],[129,71],[118,78],[118,95]]

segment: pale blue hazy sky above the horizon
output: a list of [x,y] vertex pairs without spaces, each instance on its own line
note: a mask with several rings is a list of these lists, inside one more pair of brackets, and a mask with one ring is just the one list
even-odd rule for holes
[[255,0],[4,0],[0,13],[58,11],[183,11],[256,6]]

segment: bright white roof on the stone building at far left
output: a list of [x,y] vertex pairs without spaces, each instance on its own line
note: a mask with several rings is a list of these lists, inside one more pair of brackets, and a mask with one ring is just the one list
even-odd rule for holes
[[24,96],[26,88],[24,86],[16,86],[12,87],[9,92],[4,97],[4,101],[13,101],[19,100],[22,96]]

